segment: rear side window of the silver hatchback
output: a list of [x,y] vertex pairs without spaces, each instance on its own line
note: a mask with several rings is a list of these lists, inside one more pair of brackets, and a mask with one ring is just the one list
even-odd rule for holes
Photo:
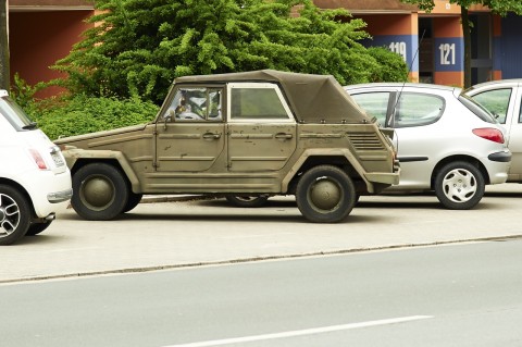
[[435,123],[443,115],[444,99],[433,95],[402,92],[397,103],[394,127]]

